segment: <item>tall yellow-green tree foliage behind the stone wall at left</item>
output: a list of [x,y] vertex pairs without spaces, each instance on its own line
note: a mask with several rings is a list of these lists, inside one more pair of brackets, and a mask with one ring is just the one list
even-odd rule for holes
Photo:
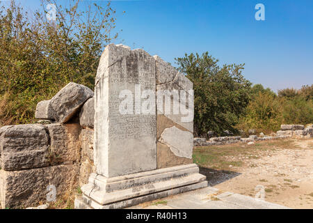
[[[56,21],[48,21],[45,6],[56,5]],[[1,4],[1,3],[0,3]],[[29,15],[15,1],[0,10],[0,125],[34,118],[40,100],[51,98],[67,82],[93,89],[99,56],[117,34],[115,10],[79,1],[67,7],[42,1],[44,10]]]

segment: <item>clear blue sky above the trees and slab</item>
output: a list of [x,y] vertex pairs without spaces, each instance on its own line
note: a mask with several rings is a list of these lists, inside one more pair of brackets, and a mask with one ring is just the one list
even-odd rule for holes
[[[255,20],[257,3],[265,6],[265,21]],[[112,6],[122,29],[115,43],[143,47],[172,64],[185,53],[208,51],[220,65],[246,63],[243,75],[274,91],[313,84],[312,0],[143,0]]]

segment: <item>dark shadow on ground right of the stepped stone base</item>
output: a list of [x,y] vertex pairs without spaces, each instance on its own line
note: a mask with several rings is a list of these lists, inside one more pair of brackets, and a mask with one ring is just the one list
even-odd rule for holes
[[231,178],[241,175],[241,173],[237,173],[234,171],[217,170],[206,167],[199,168],[200,174],[207,176],[207,181],[210,187],[213,187],[214,185],[218,185],[219,183],[223,183],[226,180],[230,180]]

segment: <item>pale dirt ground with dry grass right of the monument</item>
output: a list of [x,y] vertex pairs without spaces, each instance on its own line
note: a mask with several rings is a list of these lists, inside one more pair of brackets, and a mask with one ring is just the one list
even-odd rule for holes
[[290,208],[313,208],[313,139],[202,146],[193,160],[209,185]]

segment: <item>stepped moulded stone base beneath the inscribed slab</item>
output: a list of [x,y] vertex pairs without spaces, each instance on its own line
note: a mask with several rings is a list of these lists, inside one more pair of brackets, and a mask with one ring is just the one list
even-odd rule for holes
[[196,164],[113,178],[91,174],[89,183],[81,187],[82,197],[75,199],[75,208],[127,208],[202,187],[207,187],[207,181]]

